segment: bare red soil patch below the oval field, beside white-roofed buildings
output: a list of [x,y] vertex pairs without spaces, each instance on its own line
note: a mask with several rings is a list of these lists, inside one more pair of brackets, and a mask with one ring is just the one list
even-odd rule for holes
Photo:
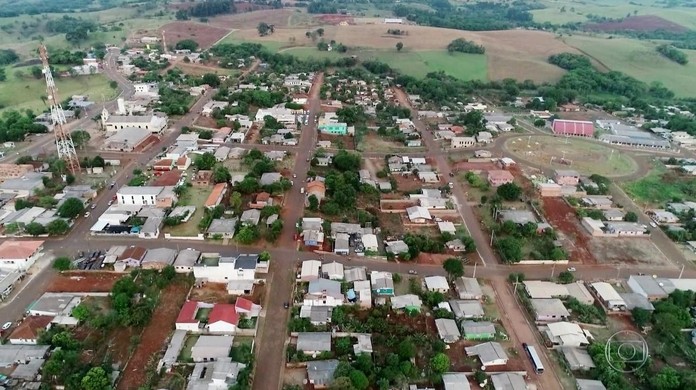
[[589,244],[591,238],[580,226],[575,210],[561,198],[544,198],[543,209],[551,226],[560,233],[559,239],[568,250],[570,260],[596,264]]

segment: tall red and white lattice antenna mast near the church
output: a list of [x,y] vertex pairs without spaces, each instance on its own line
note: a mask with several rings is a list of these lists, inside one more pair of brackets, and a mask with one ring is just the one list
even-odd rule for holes
[[68,133],[63,125],[67,122],[63,107],[60,106],[58,100],[58,90],[56,83],[53,81],[51,67],[48,65],[48,51],[46,46],[39,46],[39,56],[43,64],[43,74],[46,78],[46,95],[51,105],[51,119],[53,119],[53,135],[56,139],[56,148],[58,149],[58,158],[65,160],[70,173],[76,175],[80,173],[80,160],[77,158],[75,145],[72,142],[70,133]]

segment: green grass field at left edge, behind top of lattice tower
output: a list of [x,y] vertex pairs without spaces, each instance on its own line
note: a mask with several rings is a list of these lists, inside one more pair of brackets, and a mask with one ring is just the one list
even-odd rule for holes
[[[25,74],[23,78],[17,78],[16,72]],[[0,84],[0,104],[3,110],[31,109],[35,113],[48,109],[41,101],[41,96],[46,95],[46,84],[43,78],[31,77],[29,68],[6,67],[7,80]],[[109,79],[104,75],[62,77],[56,79],[58,94],[61,99],[67,99],[72,95],[87,95],[93,101],[101,101],[116,97],[117,91],[109,86]]]

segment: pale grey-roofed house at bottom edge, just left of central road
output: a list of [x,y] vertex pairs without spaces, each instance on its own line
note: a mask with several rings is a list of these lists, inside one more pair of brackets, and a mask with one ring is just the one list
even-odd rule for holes
[[210,363],[196,363],[187,389],[226,390],[237,383],[239,371],[246,365],[233,362],[231,358],[220,358]]

